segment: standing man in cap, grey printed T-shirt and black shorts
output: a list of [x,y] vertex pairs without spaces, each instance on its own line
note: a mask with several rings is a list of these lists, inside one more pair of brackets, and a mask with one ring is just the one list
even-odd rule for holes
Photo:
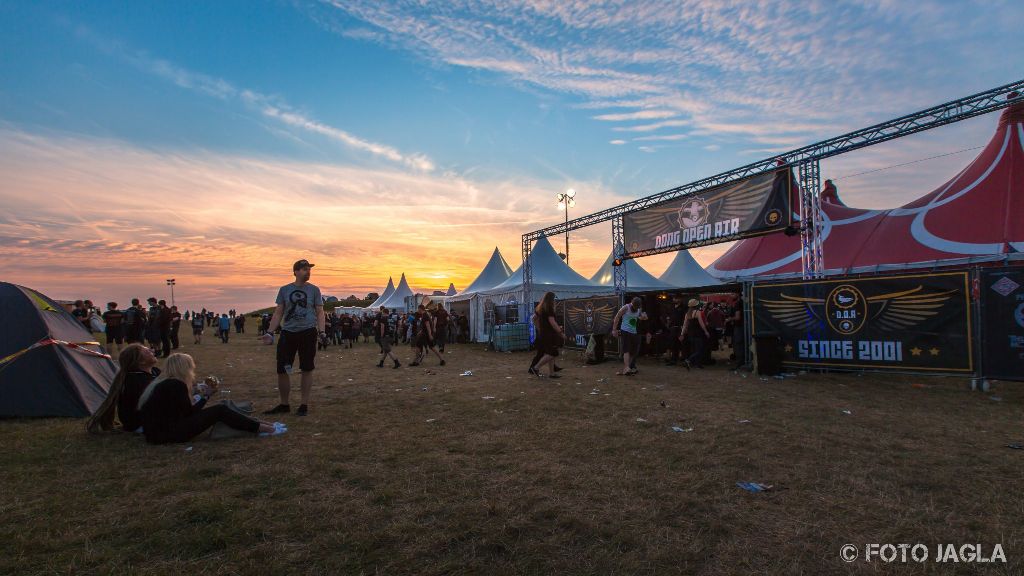
[[281,328],[281,338],[278,339],[278,392],[281,404],[267,410],[264,414],[284,414],[291,411],[288,397],[292,392],[292,381],[289,375],[299,356],[299,369],[302,370],[302,404],[296,411],[297,416],[305,416],[309,411],[309,394],[313,387],[313,358],[316,356],[316,342],[327,337],[324,324],[324,296],[319,288],[309,283],[310,269],[315,264],[302,259],[292,265],[295,282],[282,286],[278,290],[278,307],[270,318],[263,338],[272,341],[273,332]]

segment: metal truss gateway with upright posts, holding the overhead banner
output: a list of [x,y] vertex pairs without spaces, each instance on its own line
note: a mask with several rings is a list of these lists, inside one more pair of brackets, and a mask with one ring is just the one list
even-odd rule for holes
[[[642,210],[666,200],[696,194],[733,180],[777,170],[781,166],[795,168],[799,173],[801,197],[800,235],[804,278],[819,278],[824,275],[825,271],[824,252],[822,251],[823,222],[820,200],[821,175],[819,162],[821,160],[932,128],[961,122],[1020,101],[1024,101],[1024,80],[1018,80],[1004,86],[985,90],[984,92],[978,92],[977,94],[901,116],[894,120],[868,126],[867,128],[861,128],[860,130],[855,130],[841,136],[798,148],[785,154],[766,158],[688,184],[612,206],[611,208],[581,216],[563,223],[526,233],[522,236],[524,299],[527,305],[532,300],[531,289],[534,277],[529,263],[529,251],[534,242],[542,236],[551,237],[565,234],[573,230],[612,220],[612,246],[614,247],[616,259],[622,262],[625,256],[622,228],[622,216],[624,214]],[[626,292],[625,266],[616,265],[614,269],[615,292],[622,296]],[[622,270],[621,273],[620,270]]]

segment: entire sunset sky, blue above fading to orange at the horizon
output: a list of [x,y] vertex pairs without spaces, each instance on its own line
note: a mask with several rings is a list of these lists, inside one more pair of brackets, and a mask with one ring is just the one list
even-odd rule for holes
[[[582,216],[1018,80],[1022,28],[1001,0],[0,0],[0,280],[245,311],[307,258],[339,297],[462,288],[560,192]],[[822,177],[898,206],[996,121]],[[572,233],[572,268],[610,236]]]

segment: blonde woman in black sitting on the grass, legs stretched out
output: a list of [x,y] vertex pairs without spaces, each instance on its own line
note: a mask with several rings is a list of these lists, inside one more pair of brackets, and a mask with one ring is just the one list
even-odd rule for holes
[[188,442],[217,422],[260,436],[288,431],[281,422],[262,422],[223,404],[204,408],[216,393],[217,384],[213,380],[196,384],[196,362],[190,356],[169,356],[164,373],[145,388],[138,401],[145,441],[151,444]]

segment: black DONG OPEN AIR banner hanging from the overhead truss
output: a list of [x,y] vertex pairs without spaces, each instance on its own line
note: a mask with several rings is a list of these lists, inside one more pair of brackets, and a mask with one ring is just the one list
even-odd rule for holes
[[793,172],[780,169],[660,202],[623,216],[634,258],[778,232],[793,223]]

